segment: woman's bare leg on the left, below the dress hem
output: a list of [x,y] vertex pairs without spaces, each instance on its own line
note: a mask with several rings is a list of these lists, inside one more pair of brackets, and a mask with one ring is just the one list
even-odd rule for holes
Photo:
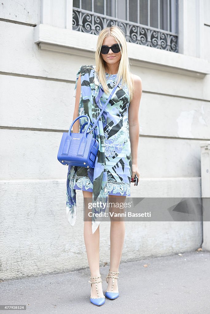
[[[92,210],[88,209],[88,203],[92,201],[92,192],[82,191],[84,202],[85,202],[85,216],[87,217],[88,212],[92,212]],[[88,198],[88,199],[86,199]],[[87,220],[87,218],[85,219]],[[88,221],[84,221],[84,241],[87,252],[87,259],[90,268],[91,277],[97,277],[100,275],[99,270],[99,226],[97,230],[92,233],[92,218],[89,217]],[[91,281],[99,280],[99,279],[90,279]],[[98,283],[98,292],[99,296],[104,297],[102,291],[102,283]],[[93,298],[97,298],[96,284],[92,284],[91,288],[91,296]]]

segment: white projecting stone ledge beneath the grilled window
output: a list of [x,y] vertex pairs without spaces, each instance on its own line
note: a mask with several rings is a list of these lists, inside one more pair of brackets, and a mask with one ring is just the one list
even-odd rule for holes
[[[95,58],[97,35],[38,24],[34,41],[39,49]],[[207,60],[127,42],[130,64],[203,78],[210,73]]]

